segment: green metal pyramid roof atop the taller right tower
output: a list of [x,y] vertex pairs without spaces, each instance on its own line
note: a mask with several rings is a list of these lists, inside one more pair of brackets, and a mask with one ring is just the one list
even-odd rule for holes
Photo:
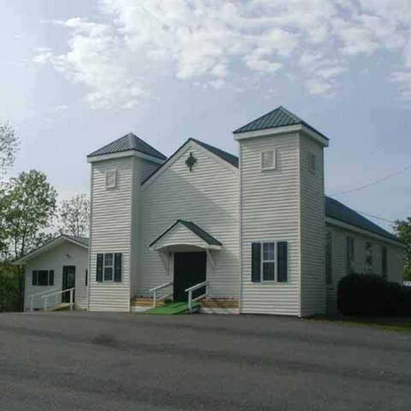
[[266,128],[284,127],[287,125],[297,125],[297,124],[305,125],[306,127],[313,130],[315,133],[320,134],[322,137],[328,140],[328,138],[324,136],[324,134],[320,133],[314,127],[306,123],[300,117],[297,117],[295,114],[291,113],[291,111],[288,111],[283,106],[279,106],[275,108],[274,110],[270,111],[269,113],[261,117],[258,117],[257,119],[253,121],[250,121],[248,124],[240,128],[237,128],[236,130],[234,130],[233,133],[238,134],[238,133],[252,132],[256,130],[264,130]]

